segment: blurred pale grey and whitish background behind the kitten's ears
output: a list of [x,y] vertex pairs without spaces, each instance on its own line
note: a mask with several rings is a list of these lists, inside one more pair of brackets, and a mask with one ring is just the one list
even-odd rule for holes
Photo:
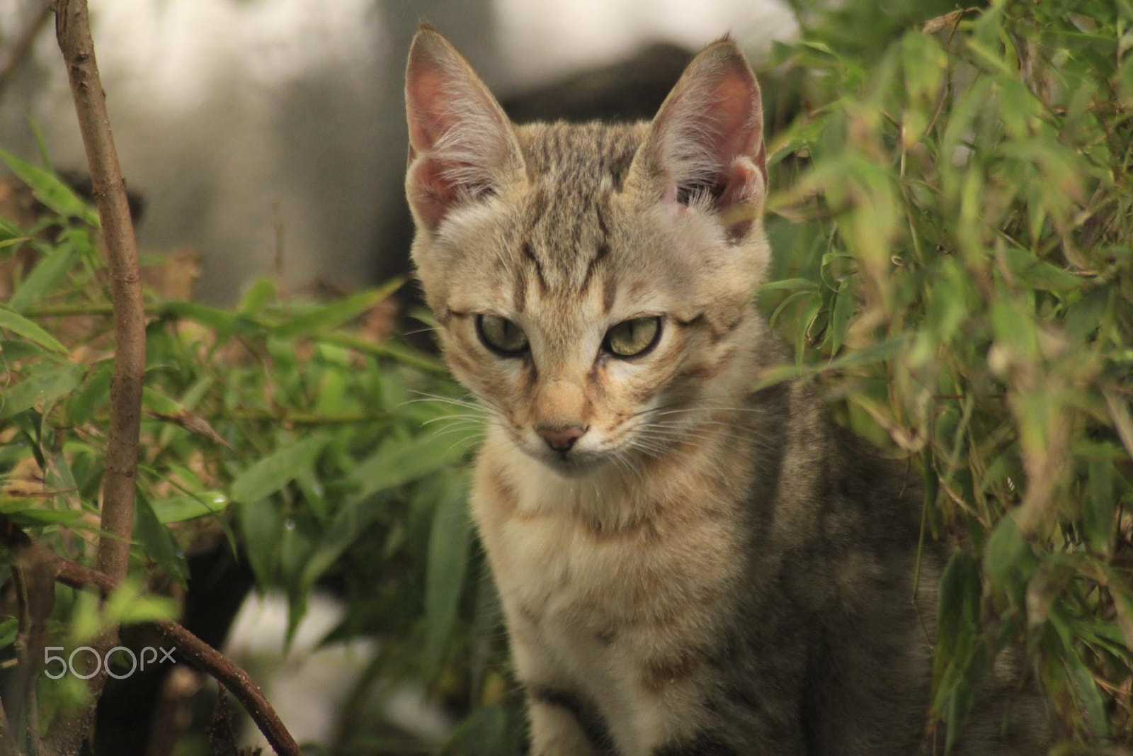
[[[82,169],[43,0],[0,3],[0,145]],[[350,289],[404,271],[403,68],[428,19],[517,119],[647,118],[688,56],[731,32],[757,59],[796,33],[781,0],[101,0],[99,65],[144,252],[190,247],[197,295],[257,275]],[[0,67],[5,63],[0,62]],[[2,68],[0,68],[2,69]]]

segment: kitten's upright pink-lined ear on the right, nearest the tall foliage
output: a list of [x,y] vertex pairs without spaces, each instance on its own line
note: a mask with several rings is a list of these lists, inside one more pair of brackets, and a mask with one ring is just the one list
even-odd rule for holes
[[708,203],[729,236],[742,238],[767,194],[759,84],[731,37],[684,70],[633,158],[638,190],[676,204]]

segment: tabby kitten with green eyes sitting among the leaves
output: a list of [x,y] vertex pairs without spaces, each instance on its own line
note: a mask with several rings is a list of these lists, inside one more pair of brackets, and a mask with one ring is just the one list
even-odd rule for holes
[[[516,126],[423,26],[406,101],[411,257],[488,415],[471,507],[531,753],[931,753],[921,494],[813,389],[750,388],[790,356],[752,304],[767,165],[736,44],[651,122]],[[1034,700],[983,706],[1000,677],[955,753],[1049,742]]]

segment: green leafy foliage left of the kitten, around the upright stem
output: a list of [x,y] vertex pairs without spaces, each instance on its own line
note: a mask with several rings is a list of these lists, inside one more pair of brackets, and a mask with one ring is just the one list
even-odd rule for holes
[[[50,172],[3,158],[50,212],[32,228],[0,222],[7,262],[22,248],[36,261],[0,305],[0,513],[91,564],[113,349],[97,219]],[[435,358],[387,338],[401,283],[316,303],[259,280],[231,309],[148,292],[131,581],[101,609],[60,588],[48,645],[69,654],[110,619],[176,613],[157,594],[184,595],[187,555],[232,549],[259,591],[287,594],[289,640],[316,584],[348,608],[327,642],[383,639],[359,698],[406,678],[458,712],[500,697],[495,595],[461,470],[479,413]],[[0,653],[15,626],[0,618]],[[82,695],[68,683],[41,678],[42,727]]]

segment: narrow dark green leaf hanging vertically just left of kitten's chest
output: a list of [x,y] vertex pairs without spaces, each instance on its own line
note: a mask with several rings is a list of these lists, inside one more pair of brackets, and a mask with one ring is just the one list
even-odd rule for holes
[[426,677],[432,677],[440,666],[457,621],[472,535],[463,476],[450,473],[438,487],[441,491],[433,512],[425,571],[427,623],[423,665]]

